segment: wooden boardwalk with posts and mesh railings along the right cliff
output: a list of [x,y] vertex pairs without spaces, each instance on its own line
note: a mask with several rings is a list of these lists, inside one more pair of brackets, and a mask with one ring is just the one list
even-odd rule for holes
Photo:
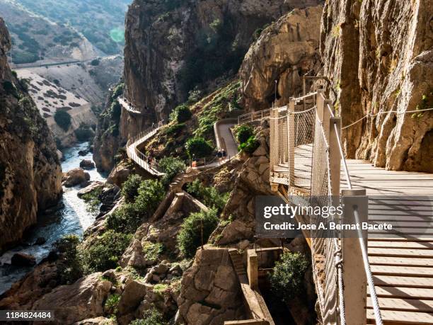
[[270,122],[270,185],[287,203],[291,195],[333,195],[357,222],[396,221],[392,231],[358,230],[357,238],[304,234],[323,324],[433,324],[433,174],[345,159],[341,119],[323,90],[241,115],[238,123],[264,118]]

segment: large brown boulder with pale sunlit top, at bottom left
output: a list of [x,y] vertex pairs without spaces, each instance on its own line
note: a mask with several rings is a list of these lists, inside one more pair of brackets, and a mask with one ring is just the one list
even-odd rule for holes
[[102,273],[93,273],[73,285],[62,285],[33,304],[33,310],[53,310],[57,324],[73,324],[83,319],[103,316],[103,304],[111,283],[100,280]]

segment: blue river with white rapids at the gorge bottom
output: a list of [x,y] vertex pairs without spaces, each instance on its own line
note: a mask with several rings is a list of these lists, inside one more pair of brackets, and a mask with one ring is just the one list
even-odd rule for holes
[[[63,152],[64,161],[62,162],[62,171],[66,172],[79,167],[82,159],[93,161],[92,154],[79,156],[78,152],[88,148],[88,142],[77,144],[75,147],[65,149]],[[88,171],[91,181],[105,181],[105,176],[98,173],[96,169]],[[39,263],[45,258],[55,241],[67,234],[77,234],[82,236],[83,232],[93,224],[98,212],[88,212],[86,203],[79,199],[77,193],[81,188],[63,188],[62,202],[64,207],[53,215],[40,217],[37,225],[31,230],[31,234],[24,240],[24,244],[6,251],[0,256],[0,295],[8,290],[11,285],[23,278],[32,268],[18,268],[11,266],[11,257],[14,253],[26,253],[35,256],[36,262]],[[42,245],[35,245],[39,237],[44,237],[47,241]]]

